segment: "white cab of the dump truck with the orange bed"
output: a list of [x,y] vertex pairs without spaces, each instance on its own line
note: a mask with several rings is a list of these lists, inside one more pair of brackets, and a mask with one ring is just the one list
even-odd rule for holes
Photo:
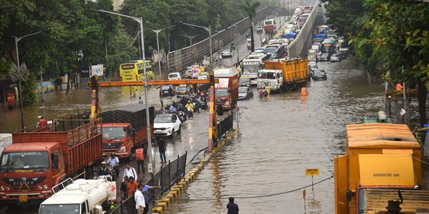
[[261,70],[258,72],[257,88],[270,87],[273,92],[283,90],[283,73],[281,70]]

